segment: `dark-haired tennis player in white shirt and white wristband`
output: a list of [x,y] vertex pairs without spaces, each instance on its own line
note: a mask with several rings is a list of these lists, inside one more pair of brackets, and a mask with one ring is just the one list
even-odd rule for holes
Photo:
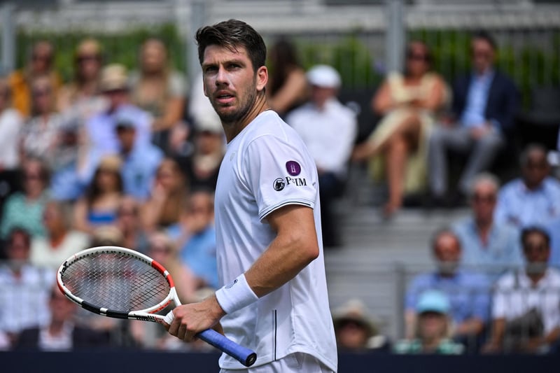
[[257,353],[248,370],[223,354],[221,372],[336,372],[316,166],[267,105],[265,43],[239,20],[202,27],[196,40],[204,93],[228,141],[215,201],[223,287],[174,309],[169,333],[190,341],[221,322]]

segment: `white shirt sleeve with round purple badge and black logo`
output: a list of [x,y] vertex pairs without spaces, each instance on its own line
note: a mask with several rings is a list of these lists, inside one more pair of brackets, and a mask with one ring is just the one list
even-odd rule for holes
[[316,167],[307,151],[272,134],[248,144],[241,171],[259,218],[288,204],[315,206]]

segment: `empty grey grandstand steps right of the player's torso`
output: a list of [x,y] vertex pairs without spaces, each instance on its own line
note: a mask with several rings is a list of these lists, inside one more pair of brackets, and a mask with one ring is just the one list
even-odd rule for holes
[[363,300],[382,332],[394,339],[402,335],[406,284],[413,274],[433,265],[431,235],[468,211],[402,209],[384,220],[370,198],[376,193],[365,190],[372,185],[357,185],[350,198],[337,204],[343,245],[325,248],[330,306],[336,309],[356,297]]

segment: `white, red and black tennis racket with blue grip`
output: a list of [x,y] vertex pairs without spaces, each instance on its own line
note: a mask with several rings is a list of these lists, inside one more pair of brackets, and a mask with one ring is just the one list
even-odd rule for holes
[[[147,255],[129,248],[87,248],[66,259],[57,272],[59,289],[72,302],[102,316],[171,324],[173,313],[157,314],[181,302],[169,272]],[[227,353],[246,367],[257,355],[208,329],[198,338]]]

